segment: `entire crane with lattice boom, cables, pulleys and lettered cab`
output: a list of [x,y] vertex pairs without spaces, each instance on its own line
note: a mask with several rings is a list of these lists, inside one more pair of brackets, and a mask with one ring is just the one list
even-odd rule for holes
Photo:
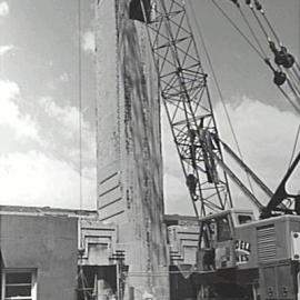
[[[238,0],[231,2],[240,9]],[[253,11],[251,2],[247,0],[246,4]],[[289,194],[286,184],[300,161],[300,153],[272,192],[219,137],[208,74],[202,68],[184,2],[132,0],[130,6],[136,9],[133,19],[146,24],[162,103],[199,221],[197,271],[191,278],[197,290],[194,299],[299,298],[300,197]],[[258,0],[254,6],[266,17]],[[277,67],[262,57],[263,61],[283,94],[287,96],[282,89],[286,82],[296,91],[296,101],[291,103],[300,112],[298,64],[293,67],[293,57],[282,44],[278,50],[271,40],[268,39],[268,43]],[[282,68],[288,69],[288,77]],[[269,197],[267,206],[224,162],[223,151]],[[254,220],[251,211],[234,209],[228,177],[258,207],[260,220]]]

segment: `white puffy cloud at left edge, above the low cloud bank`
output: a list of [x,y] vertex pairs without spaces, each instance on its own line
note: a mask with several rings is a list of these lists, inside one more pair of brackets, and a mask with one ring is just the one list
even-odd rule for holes
[[38,126],[26,113],[21,113],[20,89],[16,82],[0,80],[0,127],[10,128],[19,139],[40,141]]

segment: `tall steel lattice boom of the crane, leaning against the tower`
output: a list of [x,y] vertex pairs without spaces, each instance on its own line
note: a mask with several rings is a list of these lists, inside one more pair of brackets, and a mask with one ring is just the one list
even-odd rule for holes
[[[159,89],[180,157],[187,186],[199,217],[232,207],[227,174],[219,168],[219,144],[211,154],[207,131],[218,134],[211,98],[184,4],[160,0],[149,6],[140,0]],[[199,203],[199,204],[197,204]]]

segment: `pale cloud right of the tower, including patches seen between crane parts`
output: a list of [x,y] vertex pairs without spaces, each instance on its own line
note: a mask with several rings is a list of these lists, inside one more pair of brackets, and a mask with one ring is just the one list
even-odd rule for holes
[[[237,102],[238,101],[238,102]],[[299,118],[289,111],[281,111],[276,107],[243,96],[230,101],[227,108],[231,117],[244,161],[272,190],[283,178],[291,157]],[[237,104],[238,103],[238,104]],[[232,136],[226,121],[223,108],[220,103],[214,108],[218,129],[223,141],[236,149]],[[191,201],[182,176],[179,158],[169,133],[167,120],[163,128],[163,163],[164,163],[164,198],[169,213],[192,213]],[[298,146],[298,151],[300,144]],[[236,151],[237,152],[237,151]],[[226,157],[228,164],[248,184],[243,172]],[[300,169],[300,168],[299,168]],[[288,184],[288,190],[298,192],[300,173],[296,172]],[[231,184],[234,206],[252,208],[250,200]],[[256,191],[257,192],[257,191]],[[257,193],[258,197],[262,194]],[[267,203],[267,197],[260,198]]]

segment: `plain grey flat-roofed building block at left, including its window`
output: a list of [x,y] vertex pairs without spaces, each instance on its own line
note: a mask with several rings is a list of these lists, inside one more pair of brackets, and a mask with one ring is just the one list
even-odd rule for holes
[[1,211],[1,299],[76,299],[77,223]]

